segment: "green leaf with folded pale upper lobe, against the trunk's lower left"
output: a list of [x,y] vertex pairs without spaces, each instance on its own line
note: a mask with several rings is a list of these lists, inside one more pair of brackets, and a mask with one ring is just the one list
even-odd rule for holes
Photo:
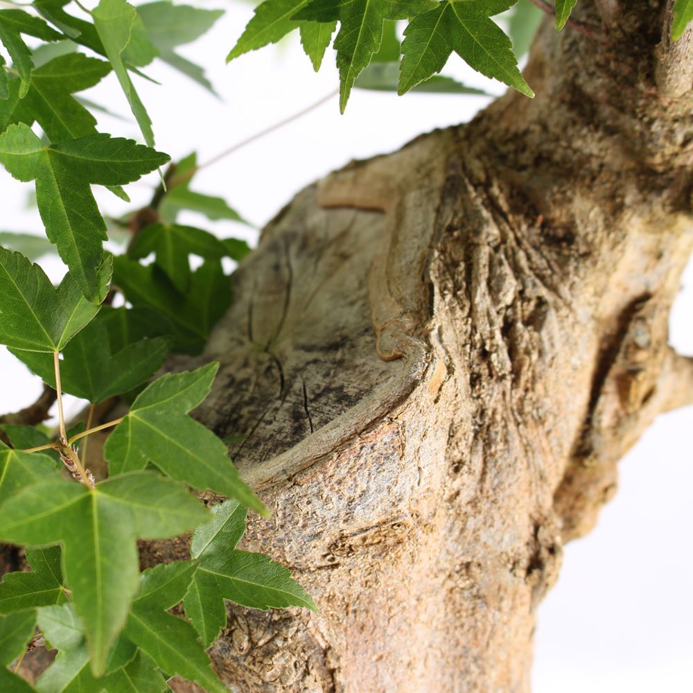
[[227,501],[217,507],[212,523],[193,534],[191,555],[199,559],[200,567],[183,604],[205,647],[226,625],[225,599],[265,611],[286,606],[316,611],[313,599],[281,563],[234,549],[245,532],[245,516],[237,502]]

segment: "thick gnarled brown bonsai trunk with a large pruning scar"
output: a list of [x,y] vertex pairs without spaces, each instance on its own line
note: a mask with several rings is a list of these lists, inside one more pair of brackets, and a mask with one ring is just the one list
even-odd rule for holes
[[693,34],[669,43],[672,3],[619,4],[604,44],[545,23],[534,100],[311,186],[236,273],[198,416],[245,435],[232,455],[272,510],[245,547],[319,613],[229,606],[212,653],[233,690],[529,691],[563,543],[693,392],[667,347]]

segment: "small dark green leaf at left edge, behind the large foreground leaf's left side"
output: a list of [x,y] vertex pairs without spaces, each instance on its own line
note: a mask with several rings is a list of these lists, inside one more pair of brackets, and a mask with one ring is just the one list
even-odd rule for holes
[[0,613],[62,604],[66,599],[59,546],[28,548],[26,560],[33,572],[10,572],[3,576]]

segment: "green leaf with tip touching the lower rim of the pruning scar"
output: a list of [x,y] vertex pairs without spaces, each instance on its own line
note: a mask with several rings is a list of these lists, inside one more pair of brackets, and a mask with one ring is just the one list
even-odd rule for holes
[[139,394],[106,441],[109,473],[143,469],[152,462],[173,479],[238,498],[266,515],[265,507],[240,479],[222,441],[186,416],[209,394],[218,367],[215,362],[194,371],[166,374]]

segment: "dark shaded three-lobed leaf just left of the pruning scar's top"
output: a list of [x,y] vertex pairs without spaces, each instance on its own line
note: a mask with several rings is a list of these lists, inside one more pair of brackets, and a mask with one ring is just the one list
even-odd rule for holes
[[157,265],[182,294],[188,290],[192,276],[188,255],[218,260],[228,254],[225,245],[209,231],[161,223],[143,229],[128,249],[128,255],[136,259],[152,252],[157,256]]

